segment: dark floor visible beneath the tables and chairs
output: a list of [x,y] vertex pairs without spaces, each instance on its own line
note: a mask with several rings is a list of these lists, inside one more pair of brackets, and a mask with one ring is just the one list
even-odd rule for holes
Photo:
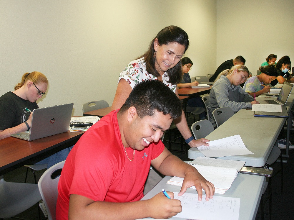
[[[169,143],[168,141],[168,133],[166,134],[164,138],[164,144],[168,148]],[[176,133],[177,135],[177,133]],[[178,134],[179,136],[179,134]],[[172,149],[181,150],[181,143],[180,138],[176,140],[178,143],[172,143]],[[294,132],[293,130],[290,132],[290,142],[294,143]],[[175,152],[171,151],[174,155],[178,156],[183,161],[191,161],[187,157],[187,150],[189,150],[189,147],[187,145],[184,145],[184,150],[186,152]],[[285,150],[282,150],[284,152]],[[284,152],[285,153],[285,152]],[[294,180],[294,150],[290,150],[290,157],[288,158],[288,162],[283,164],[284,168],[284,184],[283,184],[283,195],[280,195],[278,193],[273,193],[272,195],[272,219],[294,219],[294,187],[293,187],[293,180]],[[274,170],[279,169],[280,165],[279,163],[275,162],[273,165],[271,165]],[[10,173],[7,173],[4,175],[4,179],[6,181],[11,182],[23,182],[25,178],[25,168],[19,168],[16,169]],[[42,173],[44,173],[45,170],[37,171],[37,179],[41,177]],[[29,172],[28,176],[28,183],[34,183],[34,177],[31,172]],[[278,174],[275,178],[272,180],[272,189],[273,192],[279,192],[280,191],[280,174]],[[268,203],[265,204],[265,209],[268,208]],[[37,220],[38,217],[38,211],[36,206],[29,208],[28,210],[24,211],[23,213],[17,215],[17,217],[24,218],[24,219],[31,219],[31,220]],[[13,219],[13,218],[10,218]],[[41,219],[46,219],[43,213],[41,212]],[[260,210],[258,211],[258,214],[256,216],[256,220],[262,219],[260,215]],[[264,216],[264,219],[270,219],[268,215]]]

